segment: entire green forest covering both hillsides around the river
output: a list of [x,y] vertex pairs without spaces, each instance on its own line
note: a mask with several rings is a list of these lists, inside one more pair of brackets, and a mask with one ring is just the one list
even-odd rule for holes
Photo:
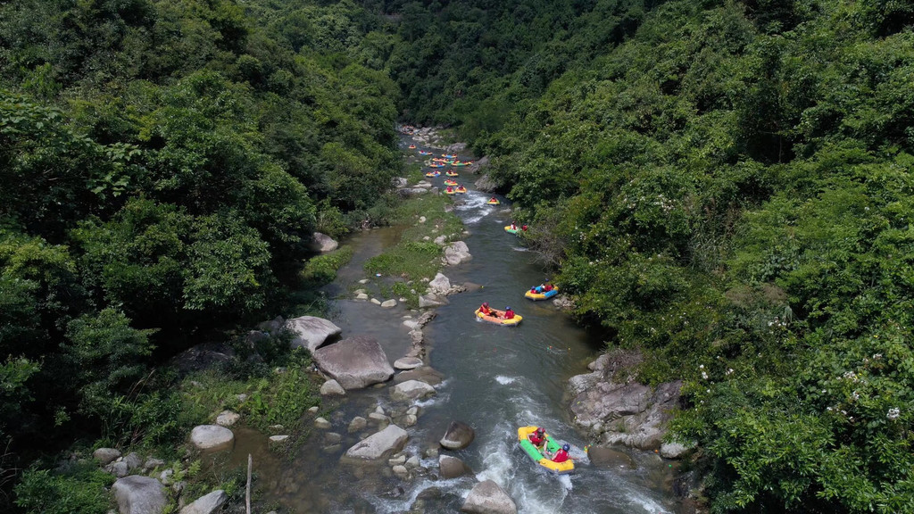
[[302,312],[399,120],[490,156],[581,323],[685,380],[711,511],[914,512],[912,78],[895,0],[0,3],[2,498],[174,439],[135,384]]

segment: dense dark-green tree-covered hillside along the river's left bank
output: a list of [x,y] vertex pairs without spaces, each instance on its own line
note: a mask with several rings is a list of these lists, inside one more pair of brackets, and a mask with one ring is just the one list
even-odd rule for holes
[[[371,19],[304,1],[0,3],[0,498],[74,434],[183,437],[156,363],[295,308],[313,231],[377,217],[401,164]],[[279,390],[301,390],[288,377]],[[290,417],[300,398],[276,402]],[[18,507],[73,484],[29,472]],[[107,505],[97,492],[55,509]]]

